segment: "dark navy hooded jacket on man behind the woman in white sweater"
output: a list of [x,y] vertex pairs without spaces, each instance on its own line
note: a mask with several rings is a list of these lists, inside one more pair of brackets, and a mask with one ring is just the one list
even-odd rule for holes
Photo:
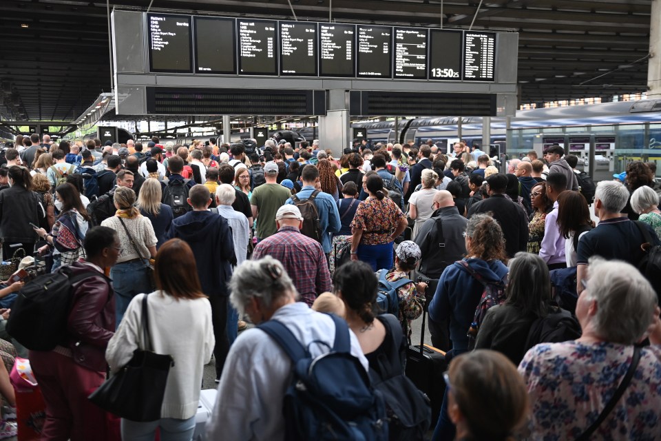
[[236,256],[227,220],[207,210],[188,212],[172,222],[171,237],[185,240],[193,250],[202,292],[207,296],[228,296],[227,283]]

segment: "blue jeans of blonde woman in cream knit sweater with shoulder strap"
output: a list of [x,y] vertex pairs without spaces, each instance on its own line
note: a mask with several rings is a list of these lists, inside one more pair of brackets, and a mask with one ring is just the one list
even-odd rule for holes
[[110,278],[115,290],[115,322],[119,327],[131,299],[138,294],[151,292],[151,281],[145,272],[144,260],[118,263],[110,269]]

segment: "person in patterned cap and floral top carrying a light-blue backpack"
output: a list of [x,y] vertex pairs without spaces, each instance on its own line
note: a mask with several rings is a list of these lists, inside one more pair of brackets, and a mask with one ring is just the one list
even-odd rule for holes
[[[404,240],[397,247],[395,252],[395,268],[388,271],[386,280],[388,282],[397,282],[403,278],[408,278],[409,272],[413,271],[422,257],[420,247],[410,240]],[[427,284],[421,283],[407,283],[403,287],[397,289],[397,297],[399,298],[399,323],[401,323],[401,330],[408,338],[409,344],[411,340],[411,321],[417,319],[422,315],[423,306],[425,305],[425,289]]]

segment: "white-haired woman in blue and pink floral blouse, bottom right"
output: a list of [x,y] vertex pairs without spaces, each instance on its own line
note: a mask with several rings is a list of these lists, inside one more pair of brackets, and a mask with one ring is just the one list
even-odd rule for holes
[[[638,270],[591,259],[578,297],[578,340],[537,345],[518,371],[527,382],[533,440],[658,440],[661,323]],[[637,344],[649,336],[651,346]]]

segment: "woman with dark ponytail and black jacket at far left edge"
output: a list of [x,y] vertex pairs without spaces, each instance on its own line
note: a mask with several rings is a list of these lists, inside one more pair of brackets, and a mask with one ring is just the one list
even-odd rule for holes
[[0,232],[2,234],[2,260],[9,260],[19,249],[19,256],[31,256],[37,240],[30,223],[37,227],[45,223],[46,212],[39,195],[32,191],[30,171],[20,165],[8,170],[10,188],[0,192]]

